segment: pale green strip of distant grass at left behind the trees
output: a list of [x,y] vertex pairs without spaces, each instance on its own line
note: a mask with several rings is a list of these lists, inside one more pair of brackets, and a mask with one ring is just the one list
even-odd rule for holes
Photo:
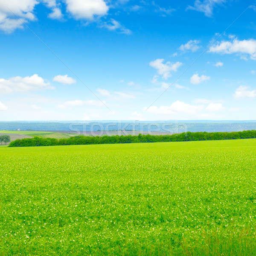
[[76,136],[76,134],[69,134],[63,132],[52,132],[52,131],[0,131],[0,134],[21,134],[30,137],[43,137],[43,138],[55,138],[55,139],[65,139],[70,138],[72,136]]

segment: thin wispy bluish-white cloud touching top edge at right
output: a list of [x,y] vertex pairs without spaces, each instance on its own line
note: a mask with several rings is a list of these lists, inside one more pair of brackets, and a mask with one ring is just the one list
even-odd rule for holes
[[194,6],[188,6],[187,9],[203,12],[205,16],[211,17],[213,8],[225,2],[226,0],[195,0]]

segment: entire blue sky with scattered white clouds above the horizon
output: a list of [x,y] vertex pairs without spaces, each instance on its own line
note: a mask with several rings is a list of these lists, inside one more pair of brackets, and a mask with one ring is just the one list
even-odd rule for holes
[[255,17],[241,0],[0,0],[0,120],[256,119]]

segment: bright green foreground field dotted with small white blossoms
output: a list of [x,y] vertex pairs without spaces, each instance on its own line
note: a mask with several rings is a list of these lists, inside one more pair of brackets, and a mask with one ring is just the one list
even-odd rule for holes
[[0,255],[255,255],[256,139],[0,147]]

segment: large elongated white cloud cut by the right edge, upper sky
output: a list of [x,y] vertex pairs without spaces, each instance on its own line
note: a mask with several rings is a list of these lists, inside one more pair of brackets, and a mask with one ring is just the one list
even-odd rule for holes
[[[247,54],[251,59],[256,60],[256,40],[248,39],[241,40],[234,39],[233,41],[221,41],[209,48],[209,52],[221,54]],[[242,56],[246,58],[246,56]]]

